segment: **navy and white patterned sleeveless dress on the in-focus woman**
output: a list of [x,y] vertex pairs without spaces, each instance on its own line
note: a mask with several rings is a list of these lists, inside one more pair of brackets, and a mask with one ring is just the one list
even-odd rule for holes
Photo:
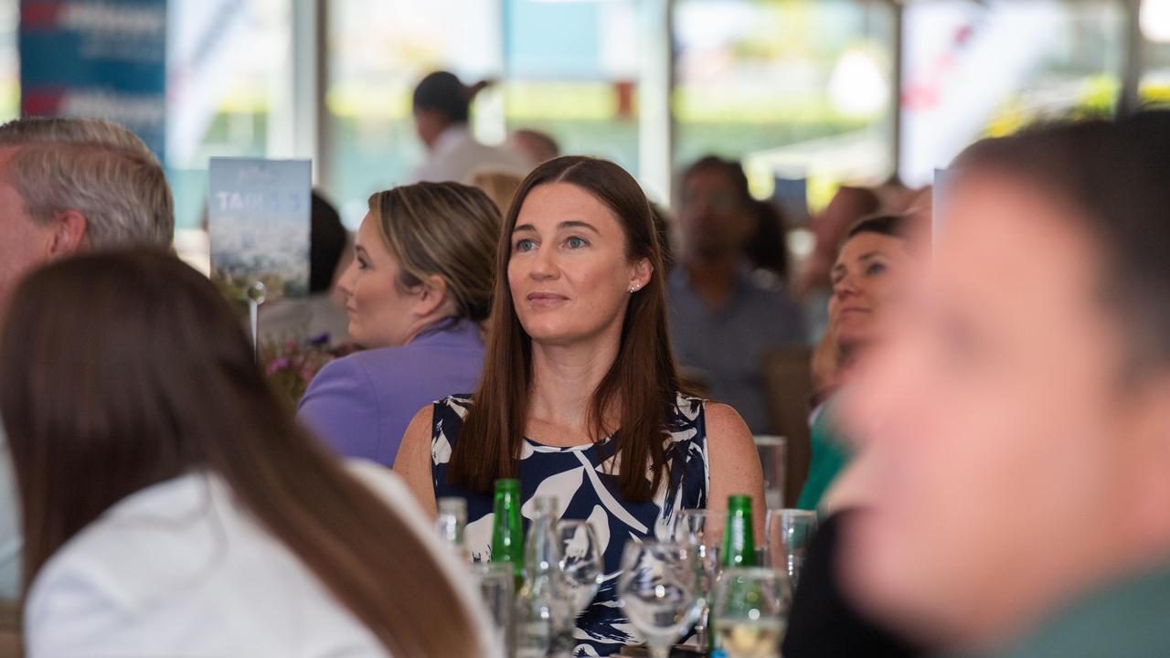
[[[447,482],[452,446],[472,406],[466,396],[436,402],[431,439],[431,474],[435,496],[467,499],[468,550],[476,561],[491,557],[494,522],[490,494],[472,493]],[[710,481],[703,400],[677,396],[669,410],[663,437],[670,478],[653,500],[631,503],[621,499],[617,475],[608,474],[614,459],[613,437],[597,445],[553,447],[525,439],[519,464],[521,515],[525,532],[531,500],[555,496],[562,519],[589,520],[598,533],[605,562],[605,582],[577,619],[573,656],[611,656],[622,646],[640,644],[641,635],[618,606],[621,553],[629,539],[669,540],[680,509],[707,507]]]

